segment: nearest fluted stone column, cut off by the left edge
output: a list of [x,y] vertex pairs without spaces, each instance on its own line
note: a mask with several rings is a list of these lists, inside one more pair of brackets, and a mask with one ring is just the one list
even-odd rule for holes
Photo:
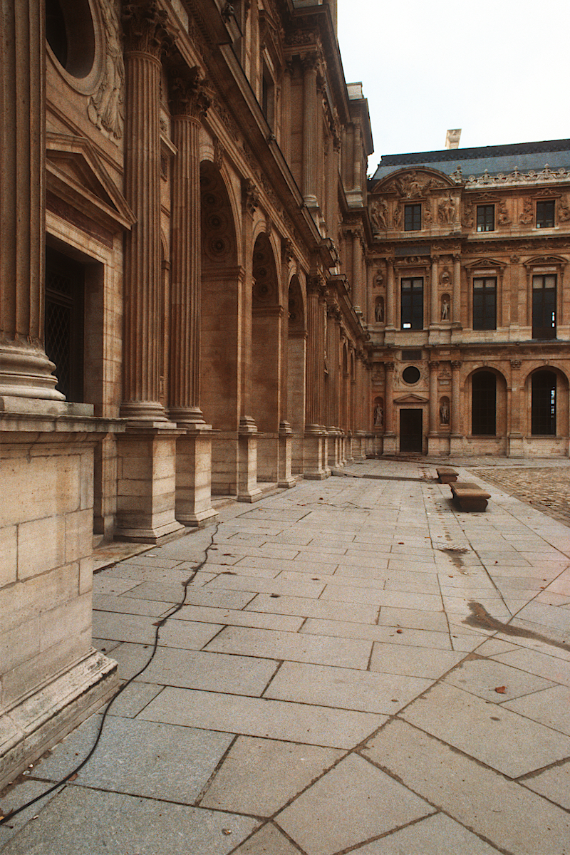
[[0,13],[0,395],[62,401],[44,351],[44,3]]

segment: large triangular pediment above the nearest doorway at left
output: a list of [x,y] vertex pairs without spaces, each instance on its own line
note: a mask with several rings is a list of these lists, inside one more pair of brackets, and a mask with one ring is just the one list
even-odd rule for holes
[[46,171],[48,191],[91,220],[114,232],[136,221],[88,139],[48,133]]

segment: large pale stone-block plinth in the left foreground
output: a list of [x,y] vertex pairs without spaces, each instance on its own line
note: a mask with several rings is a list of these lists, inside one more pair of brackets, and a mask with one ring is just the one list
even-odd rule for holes
[[33,403],[0,399],[0,788],[118,682],[91,647],[91,552],[93,449],[122,425],[7,411]]

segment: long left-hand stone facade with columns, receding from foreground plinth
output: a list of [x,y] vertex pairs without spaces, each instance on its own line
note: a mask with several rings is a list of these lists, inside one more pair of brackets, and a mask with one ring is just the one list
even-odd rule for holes
[[335,0],[0,0],[0,787],[101,704],[97,539],[373,451]]

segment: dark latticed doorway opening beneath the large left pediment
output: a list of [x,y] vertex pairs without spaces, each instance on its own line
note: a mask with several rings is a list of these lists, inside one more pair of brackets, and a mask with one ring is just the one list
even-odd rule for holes
[[45,251],[45,352],[55,363],[56,389],[68,401],[83,401],[84,269]]

